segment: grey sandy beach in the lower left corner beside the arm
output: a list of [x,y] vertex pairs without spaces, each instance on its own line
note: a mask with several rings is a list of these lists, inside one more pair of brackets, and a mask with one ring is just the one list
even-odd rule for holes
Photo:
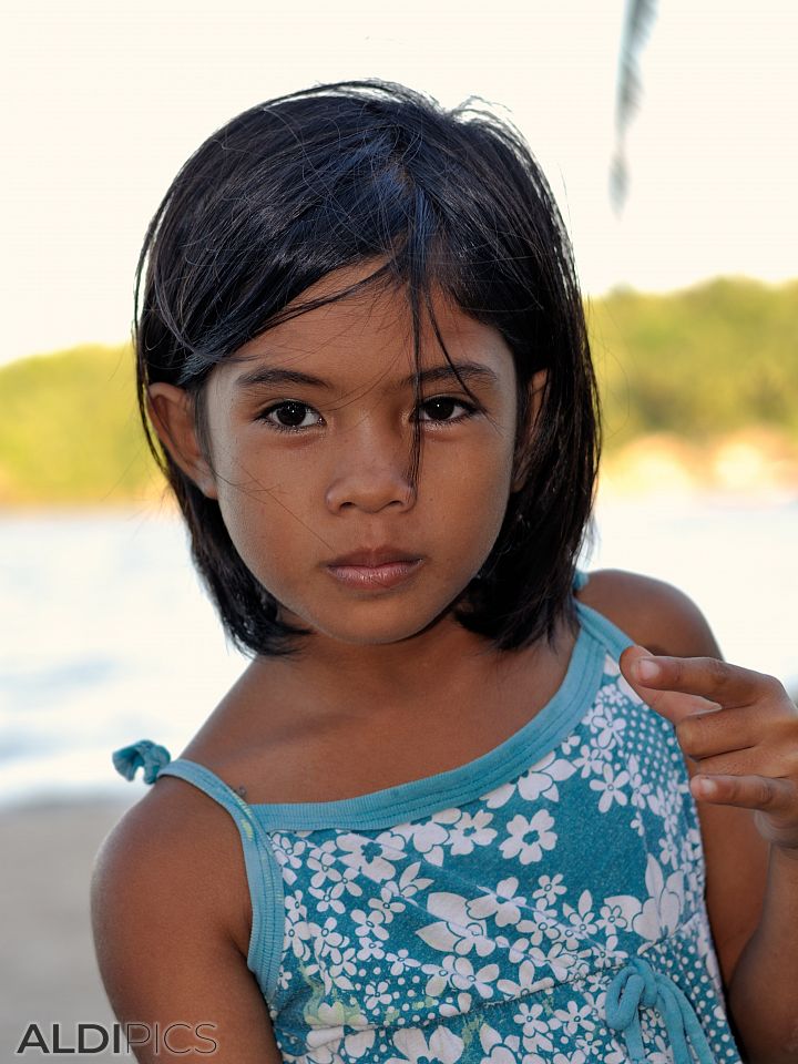
[[[106,799],[40,801],[0,810],[0,1060],[41,1060],[39,1048],[16,1056],[31,1023],[52,1048],[75,1046],[78,1023],[111,1026],[113,1015],[96,970],[89,917],[94,856],[129,804]],[[100,1035],[90,1045],[99,1044]],[[74,1053],[69,1060],[129,1060]]]

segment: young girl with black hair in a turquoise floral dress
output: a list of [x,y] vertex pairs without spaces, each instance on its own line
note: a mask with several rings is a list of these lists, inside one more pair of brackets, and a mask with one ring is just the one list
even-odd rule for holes
[[114,756],[157,779],[93,886],[139,1060],[798,1061],[795,707],[674,589],[575,570],[595,381],[519,134],[381,82],[254,108],[137,305],[252,656],[180,758]]

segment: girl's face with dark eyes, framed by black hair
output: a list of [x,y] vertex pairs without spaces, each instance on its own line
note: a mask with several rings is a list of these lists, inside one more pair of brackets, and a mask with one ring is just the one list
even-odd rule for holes
[[[335,290],[369,273],[340,270]],[[305,296],[330,290],[325,278]],[[410,310],[396,290],[358,294],[262,334],[239,350],[246,361],[221,364],[206,386],[212,466],[192,475],[218,500],[236,549],[285,620],[347,644],[393,643],[446,623],[490,554],[514,487],[510,349],[497,329],[442,298],[434,306],[477,407],[429,323],[413,405]],[[152,387],[162,418],[177,391]],[[408,480],[415,419],[417,494]],[[383,548],[419,559],[392,586],[330,570],[341,555]]]

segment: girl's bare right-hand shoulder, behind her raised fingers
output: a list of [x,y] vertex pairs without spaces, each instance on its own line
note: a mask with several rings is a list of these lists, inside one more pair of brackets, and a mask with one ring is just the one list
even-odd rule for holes
[[653,654],[720,656],[698,606],[663,580],[620,569],[597,570],[590,574],[576,597]]

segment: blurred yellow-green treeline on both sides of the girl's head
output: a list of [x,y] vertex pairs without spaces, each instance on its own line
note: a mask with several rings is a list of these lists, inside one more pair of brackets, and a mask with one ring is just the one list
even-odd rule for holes
[[[610,456],[651,433],[710,443],[761,426],[798,448],[798,280],[617,290],[586,311]],[[130,345],[0,368],[0,504],[160,498],[133,374]]]

